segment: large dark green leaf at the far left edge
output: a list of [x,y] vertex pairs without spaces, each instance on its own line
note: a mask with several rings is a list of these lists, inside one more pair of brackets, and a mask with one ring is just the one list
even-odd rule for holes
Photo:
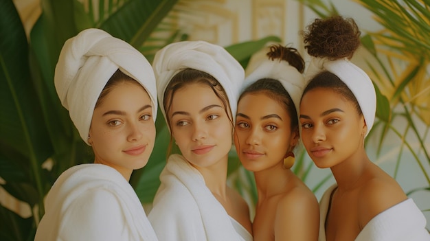
[[[1,158],[4,158],[2,162],[20,163],[30,170],[19,173],[27,174],[30,181],[14,187],[11,187],[13,183],[6,183],[10,187],[7,190],[16,193],[36,190],[34,198],[37,199],[44,192],[41,163],[52,153],[52,143],[46,135],[45,119],[30,75],[27,38],[12,1],[0,2],[0,16]],[[16,157],[16,152],[23,158],[9,159]],[[36,202],[32,199],[31,203]],[[43,200],[38,203],[43,205]]]

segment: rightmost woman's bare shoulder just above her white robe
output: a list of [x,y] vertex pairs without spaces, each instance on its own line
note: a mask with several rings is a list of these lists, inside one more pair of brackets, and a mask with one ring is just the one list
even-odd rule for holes
[[[381,170],[381,172],[383,172]],[[391,176],[376,173],[363,183],[359,195],[359,220],[362,228],[374,216],[406,200],[402,187]]]

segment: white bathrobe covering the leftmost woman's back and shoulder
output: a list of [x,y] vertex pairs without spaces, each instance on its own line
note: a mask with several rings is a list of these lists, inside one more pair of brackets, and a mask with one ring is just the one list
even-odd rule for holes
[[82,164],[61,174],[47,194],[36,241],[156,241],[133,187],[117,170]]

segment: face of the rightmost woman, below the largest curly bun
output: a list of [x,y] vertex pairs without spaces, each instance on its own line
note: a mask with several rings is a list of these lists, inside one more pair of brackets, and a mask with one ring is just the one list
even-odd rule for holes
[[354,104],[328,88],[315,88],[300,103],[302,141],[319,168],[331,168],[363,149],[365,122]]

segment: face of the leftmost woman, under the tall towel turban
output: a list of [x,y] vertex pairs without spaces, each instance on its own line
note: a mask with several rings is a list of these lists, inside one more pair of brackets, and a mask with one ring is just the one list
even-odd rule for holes
[[93,112],[89,143],[94,163],[109,165],[128,180],[133,170],[148,163],[154,142],[148,93],[135,81],[115,84]]

